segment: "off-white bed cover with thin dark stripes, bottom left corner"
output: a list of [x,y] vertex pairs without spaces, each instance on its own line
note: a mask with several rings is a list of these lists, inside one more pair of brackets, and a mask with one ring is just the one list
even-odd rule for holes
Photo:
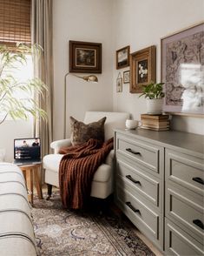
[[36,256],[30,203],[23,173],[0,163],[0,255]]

